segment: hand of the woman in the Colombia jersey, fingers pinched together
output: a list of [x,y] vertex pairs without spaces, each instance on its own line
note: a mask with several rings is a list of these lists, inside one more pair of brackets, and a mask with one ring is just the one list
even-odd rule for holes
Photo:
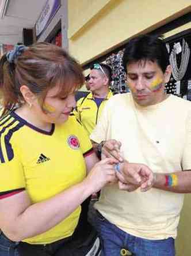
[[116,159],[106,158],[94,165],[83,181],[90,188],[91,194],[100,191],[108,183],[118,181],[114,170],[114,164],[117,163]]

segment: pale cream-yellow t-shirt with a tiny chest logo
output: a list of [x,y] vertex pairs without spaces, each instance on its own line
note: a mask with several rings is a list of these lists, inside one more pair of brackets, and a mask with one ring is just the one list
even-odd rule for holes
[[[108,100],[91,140],[115,139],[131,163],[153,172],[191,170],[191,103],[170,95],[161,103],[140,107],[131,93]],[[146,239],[175,238],[184,195],[159,189],[128,193],[117,185],[101,191],[95,207],[111,223]]]

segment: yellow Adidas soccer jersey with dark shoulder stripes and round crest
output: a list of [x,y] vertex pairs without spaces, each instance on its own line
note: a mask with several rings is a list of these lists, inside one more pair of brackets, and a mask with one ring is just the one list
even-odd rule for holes
[[[0,134],[0,199],[26,190],[35,204],[85,178],[84,157],[93,149],[75,118],[69,117],[63,125],[52,124],[47,132],[11,112],[0,120]],[[72,235],[80,212],[81,206],[54,228],[25,242],[52,243]]]

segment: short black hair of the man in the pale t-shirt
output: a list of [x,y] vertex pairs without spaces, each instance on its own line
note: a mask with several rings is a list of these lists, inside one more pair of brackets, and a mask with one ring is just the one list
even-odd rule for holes
[[137,61],[156,61],[165,73],[169,63],[169,54],[166,44],[162,37],[154,35],[140,35],[129,40],[126,44],[123,55],[124,70],[127,71],[127,65]]

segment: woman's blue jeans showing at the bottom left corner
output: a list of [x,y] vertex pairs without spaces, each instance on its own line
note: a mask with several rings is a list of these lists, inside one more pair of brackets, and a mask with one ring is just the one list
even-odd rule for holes
[[19,256],[17,242],[12,242],[0,231],[0,256]]

